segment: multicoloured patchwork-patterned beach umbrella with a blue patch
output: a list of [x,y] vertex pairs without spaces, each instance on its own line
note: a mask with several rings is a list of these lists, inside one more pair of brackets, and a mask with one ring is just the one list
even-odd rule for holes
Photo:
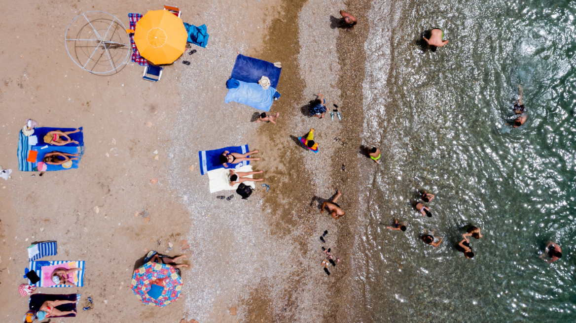
[[[160,285],[155,280],[162,280]],[[164,289],[161,289],[164,287]],[[134,271],[132,291],[145,304],[164,307],[180,297],[182,280],[176,270],[167,264],[147,262]]]

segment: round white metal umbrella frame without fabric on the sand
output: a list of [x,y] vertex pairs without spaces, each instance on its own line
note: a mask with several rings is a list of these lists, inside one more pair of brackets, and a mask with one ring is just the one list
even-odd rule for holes
[[98,75],[111,75],[124,67],[132,47],[126,27],[105,11],[86,11],[76,16],[64,36],[66,52],[74,63]]

